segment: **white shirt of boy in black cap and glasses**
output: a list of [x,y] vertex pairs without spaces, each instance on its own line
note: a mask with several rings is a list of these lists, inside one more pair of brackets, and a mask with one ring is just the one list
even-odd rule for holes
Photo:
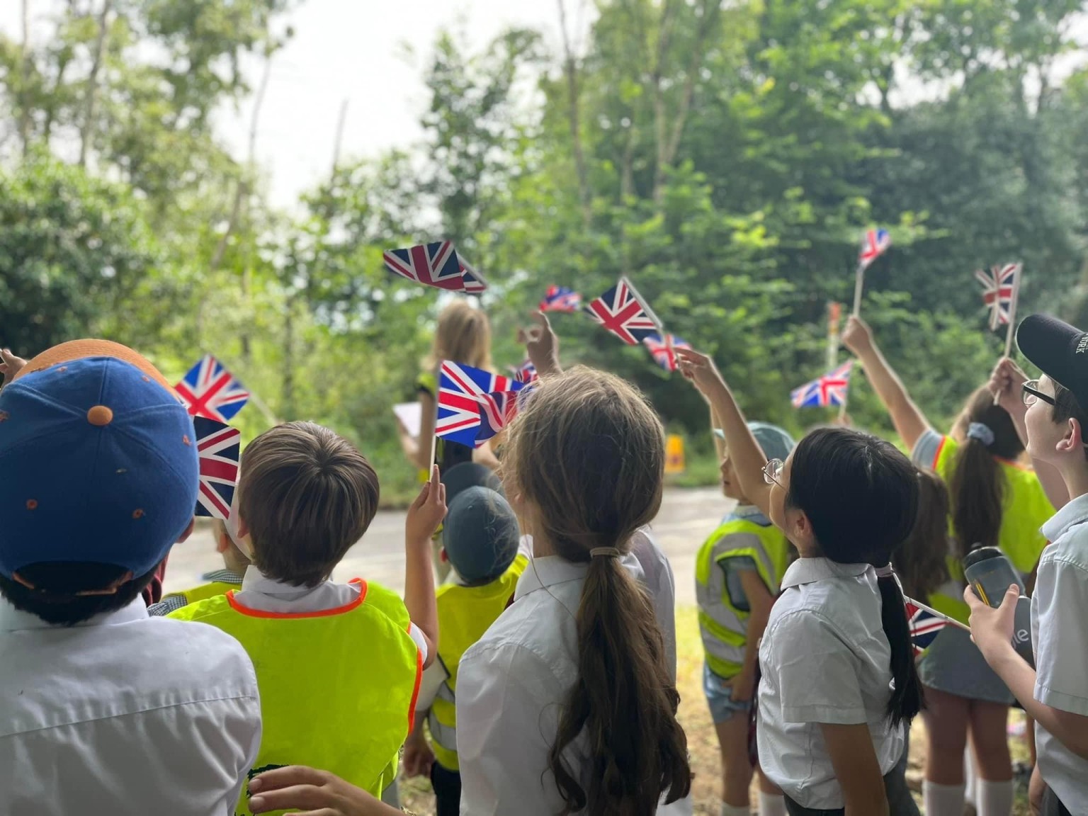
[[[1042,526],[1053,542],[1031,595],[1035,698],[1088,717],[1088,495]],[[1088,816],[1088,759],[1036,722],[1039,771],[1073,816]]]

